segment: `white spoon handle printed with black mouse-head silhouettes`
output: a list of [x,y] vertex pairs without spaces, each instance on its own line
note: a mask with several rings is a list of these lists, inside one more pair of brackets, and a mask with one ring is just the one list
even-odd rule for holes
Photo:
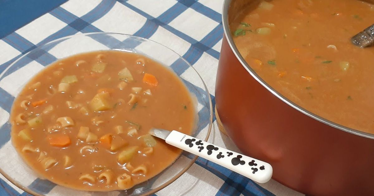
[[266,162],[215,146],[178,131],[171,131],[165,141],[172,146],[231,169],[258,183],[266,183],[273,175],[272,166]]

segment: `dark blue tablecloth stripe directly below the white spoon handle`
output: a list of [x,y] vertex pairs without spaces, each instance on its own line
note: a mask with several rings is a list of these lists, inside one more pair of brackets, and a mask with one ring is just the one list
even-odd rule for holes
[[200,157],[197,158],[195,163],[225,181],[217,195],[235,196],[242,193],[243,195],[274,196],[273,193],[254,183],[252,180],[249,180],[249,178],[226,169],[221,165],[217,165]]

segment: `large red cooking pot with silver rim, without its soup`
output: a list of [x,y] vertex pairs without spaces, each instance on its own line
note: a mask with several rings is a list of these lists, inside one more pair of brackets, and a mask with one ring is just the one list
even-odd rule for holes
[[217,112],[246,155],[307,195],[374,195],[374,135],[321,118],[270,87],[238,52],[229,22],[251,1],[225,0],[215,87]]

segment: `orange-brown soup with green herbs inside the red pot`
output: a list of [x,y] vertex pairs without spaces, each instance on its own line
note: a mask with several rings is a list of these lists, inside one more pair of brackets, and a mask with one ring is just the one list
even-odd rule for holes
[[230,23],[249,66],[308,111],[374,133],[374,47],[350,42],[374,23],[374,6],[356,0],[252,2]]

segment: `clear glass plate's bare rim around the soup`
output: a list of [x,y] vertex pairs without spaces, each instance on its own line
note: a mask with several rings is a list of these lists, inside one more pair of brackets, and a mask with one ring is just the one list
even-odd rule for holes
[[183,152],[160,174],[132,189],[110,192],[85,192],[54,184],[38,176],[18,155],[10,140],[9,113],[23,86],[44,66],[57,59],[97,50],[121,50],[148,56],[174,71],[197,98],[197,126],[193,137],[208,140],[212,126],[212,101],[196,70],[173,50],[132,35],[87,33],[59,38],[38,46],[4,69],[0,74],[0,173],[15,186],[33,195],[149,195],[171,184],[197,159]]

